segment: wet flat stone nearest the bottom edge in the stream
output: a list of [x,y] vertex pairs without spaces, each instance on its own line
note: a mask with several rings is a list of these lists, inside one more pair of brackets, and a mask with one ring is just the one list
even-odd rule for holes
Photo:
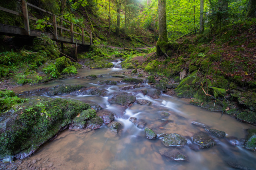
[[187,157],[180,152],[180,150],[176,148],[170,148],[170,149],[162,149],[159,150],[160,154],[162,156],[166,156],[170,160],[174,161],[186,161]]

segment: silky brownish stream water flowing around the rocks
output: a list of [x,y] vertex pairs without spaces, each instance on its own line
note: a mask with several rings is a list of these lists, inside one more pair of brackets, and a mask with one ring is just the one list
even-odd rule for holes
[[[220,112],[210,112],[200,107],[188,104],[188,100],[180,99],[165,94],[159,99],[152,99],[139,93],[139,90],[152,90],[148,84],[145,87],[127,90],[137,99],[145,99],[152,102],[150,106],[132,104],[128,108],[120,105],[110,105],[108,98],[119,91],[122,86],[98,85],[99,80],[122,80],[112,77],[121,75],[126,70],[120,67],[120,63],[114,63],[115,68],[109,69],[82,69],[77,76],[65,80],[55,80],[38,86],[26,87],[28,89],[45,88],[58,84],[82,84],[96,86],[106,91],[105,96],[74,96],[61,95],[58,98],[73,98],[82,101],[90,101],[99,104],[103,109],[115,113],[115,120],[121,123],[122,129],[119,136],[109,136],[106,133],[109,125],[102,125],[94,131],[65,130],[56,139],[43,145],[34,155],[26,160],[37,160],[42,168],[55,169],[95,169],[95,170],[207,170],[227,169],[229,165],[238,168],[256,169],[256,152],[251,152],[241,147],[241,141],[246,136],[245,129],[254,126],[241,123],[236,119],[222,115]],[[82,79],[90,74],[102,75],[96,80]],[[24,88],[24,87],[23,87]],[[22,89],[20,89],[22,90]],[[167,124],[161,121],[161,112],[170,113],[171,119]],[[131,121],[130,117],[144,119],[146,127],[156,130],[157,133],[178,133],[188,140],[188,144],[179,148],[187,157],[187,161],[175,162],[160,155],[160,150],[167,149],[160,139],[146,139],[144,129],[139,129]],[[226,138],[214,138],[216,145],[209,149],[193,149],[191,137],[204,129],[191,124],[191,121],[202,122],[213,129],[226,132]]]

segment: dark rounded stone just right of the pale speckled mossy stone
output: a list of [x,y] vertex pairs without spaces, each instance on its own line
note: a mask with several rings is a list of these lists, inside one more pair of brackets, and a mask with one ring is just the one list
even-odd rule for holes
[[215,141],[212,140],[206,133],[199,132],[192,136],[192,141],[199,145],[201,148],[210,148],[215,145]]

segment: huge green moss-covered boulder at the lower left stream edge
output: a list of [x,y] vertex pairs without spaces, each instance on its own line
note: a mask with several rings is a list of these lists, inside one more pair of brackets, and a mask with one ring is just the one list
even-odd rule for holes
[[[12,113],[13,124],[0,129],[0,158],[30,156],[40,145],[65,129],[70,120],[90,108],[78,100],[43,96],[31,96],[19,107]],[[3,127],[2,123],[0,127]]]

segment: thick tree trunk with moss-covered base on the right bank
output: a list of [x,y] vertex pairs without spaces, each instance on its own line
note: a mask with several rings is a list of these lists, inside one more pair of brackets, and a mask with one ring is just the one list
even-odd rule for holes
[[166,54],[168,46],[166,25],[166,0],[158,0],[159,37],[156,43],[156,55]]

